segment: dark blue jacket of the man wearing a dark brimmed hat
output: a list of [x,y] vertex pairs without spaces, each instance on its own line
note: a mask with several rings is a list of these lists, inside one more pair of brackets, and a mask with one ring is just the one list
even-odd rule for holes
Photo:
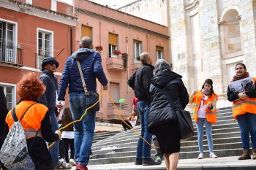
[[39,102],[48,107],[50,113],[55,113],[56,110],[56,90],[58,88],[57,78],[52,72],[44,70],[39,76],[39,80],[46,86],[45,93],[39,97]]

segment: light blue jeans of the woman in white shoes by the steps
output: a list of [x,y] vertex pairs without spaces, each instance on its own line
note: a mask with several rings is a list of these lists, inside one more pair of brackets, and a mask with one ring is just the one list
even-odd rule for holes
[[197,123],[195,124],[197,126],[197,141],[198,141],[198,147],[199,152],[203,153],[203,123],[206,126],[206,137],[208,140],[208,148],[209,152],[214,152],[214,142],[212,139],[212,125],[211,123],[208,123],[206,118],[197,118]]

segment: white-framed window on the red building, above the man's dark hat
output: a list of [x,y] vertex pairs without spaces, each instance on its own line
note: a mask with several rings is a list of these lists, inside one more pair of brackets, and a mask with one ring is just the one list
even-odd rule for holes
[[44,58],[53,57],[53,32],[38,29],[37,31],[37,69],[41,69]]

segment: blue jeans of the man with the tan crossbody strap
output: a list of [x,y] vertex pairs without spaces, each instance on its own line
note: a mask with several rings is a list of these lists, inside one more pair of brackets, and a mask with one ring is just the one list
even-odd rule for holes
[[[84,92],[69,93],[69,107],[73,120],[79,120],[86,112],[86,95]],[[87,166],[94,136],[96,112],[90,109],[83,116],[80,122],[74,124],[75,127],[75,161],[83,166]]]

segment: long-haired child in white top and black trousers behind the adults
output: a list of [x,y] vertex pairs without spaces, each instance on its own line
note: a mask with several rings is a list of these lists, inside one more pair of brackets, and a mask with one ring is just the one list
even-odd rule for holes
[[[70,112],[69,107],[65,107],[63,111],[63,115],[61,117],[61,120],[59,120],[59,123],[62,123],[61,128],[71,123],[72,115]],[[72,168],[72,166],[75,166],[75,160],[74,160],[74,128],[73,125],[67,126],[67,128],[64,128],[62,131],[62,142],[64,145],[64,156],[66,161],[67,168]],[[70,153],[70,160],[69,160],[69,147],[71,150]]]

